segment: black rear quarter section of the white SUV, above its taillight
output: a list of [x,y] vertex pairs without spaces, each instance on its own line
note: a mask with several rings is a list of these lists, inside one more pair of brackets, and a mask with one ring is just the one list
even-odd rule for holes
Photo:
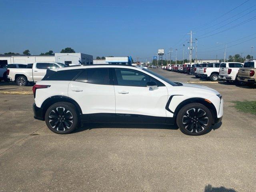
[[[54,72],[52,70],[47,70],[48,73],[46,74],[46,78],[44,78],[43,80],[71,81],[80,71],[81,70],[61,70],[61,71]],[[50,75],[48,76],[48,74]]]

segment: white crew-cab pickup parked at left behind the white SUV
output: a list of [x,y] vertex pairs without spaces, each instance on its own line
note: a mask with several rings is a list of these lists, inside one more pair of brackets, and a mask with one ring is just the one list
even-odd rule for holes
[[18,86],[26,86],[28,82],[40,81],[46,74],[47,69],[67,67],[59,62],[36,62],[28,64],[27,68],[8,68],[7,74],[10,81]]

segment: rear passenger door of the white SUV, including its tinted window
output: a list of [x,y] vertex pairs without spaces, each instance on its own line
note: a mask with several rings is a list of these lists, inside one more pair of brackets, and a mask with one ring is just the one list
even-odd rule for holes
[[115,92],[108,68],[84,69],[70,82],[68,96],[79,104],[84,120],[115,120]]

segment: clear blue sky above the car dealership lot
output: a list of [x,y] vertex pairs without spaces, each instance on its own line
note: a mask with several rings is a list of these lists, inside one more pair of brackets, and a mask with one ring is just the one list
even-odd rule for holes
[[150,60],[158,48],[177,48],[182,59],[192,30],[198,58],[223,58],[224,45],[216,42],[228,43],[227,55],[256,56],[255,0],[0,0],[0,7],[0,53],[72,47],[94,58]]

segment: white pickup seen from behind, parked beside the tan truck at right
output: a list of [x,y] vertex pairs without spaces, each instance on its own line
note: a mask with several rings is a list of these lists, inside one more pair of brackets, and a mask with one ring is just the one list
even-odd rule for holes
[[244,64],[238,62],[223,62],[220,63],[219,79],[227,82],[234,82],[238,76],[239,68],[242,68]]

